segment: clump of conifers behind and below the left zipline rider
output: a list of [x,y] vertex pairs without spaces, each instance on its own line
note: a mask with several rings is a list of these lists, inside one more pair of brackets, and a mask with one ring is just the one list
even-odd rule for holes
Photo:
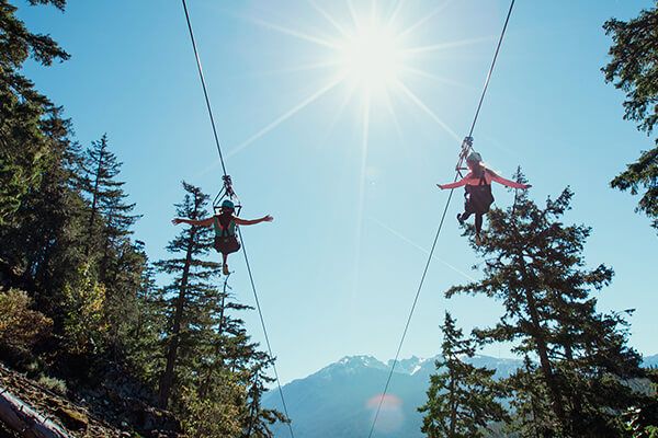
[[[185,183],[183,188],[177,215],[203,219],[207,195]],[[269,438],[271,425],[287,422],[261,406],[265,384],[273,381],[266,374],[273,359],[258,350],[235,314],[250,308],[231,300],[227,283],[223,290],[213,284],[220,267],[206,258],[213,238],[212,228],[184,228],[167,247],[172,257],[156,264],[172,278],[155,301],[168,316],[160,403],[186,418],[191,436]]]

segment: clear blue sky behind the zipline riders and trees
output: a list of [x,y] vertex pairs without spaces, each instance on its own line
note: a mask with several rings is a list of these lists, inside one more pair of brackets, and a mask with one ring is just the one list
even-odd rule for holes
[[[32,30],[71,54],[50,68],[30,64],[26,73],[65,106],[82,145],[107,132],[144,215],[136,238],[152,260],[166,257],[180,182],[214,195],[222,176],[181,3],[70,0],[64,14],[15,3]],[[189,1],[242,216],[275,218],[243,234],[283,382],[345,355],[395,355],[447,197],[435,183],[454,176],[509,7],[400,1],[395,32],[418,24],[402,45],[426,49],[404,59],[416,70],[400,73],[404,89],[389,89],[388,101],[374,93],[366,112],[363,84],[330,87],[340,69],[326,43],[343,45],[339,28],[363,23],[371,4],[352,0],[351,12],[347,0]],[[376,4],[381,16],[396,10],[395,1]],[[492,169],[510,176],[523,168],[540,204],[574,189],[566,220],[593,228],[588,263],[616,273],[598,293],[600,309],[637,309],[631,343],[649,355],[658,353],[657,239],[633,211],[637,199],[609,181],[653,140],[622,119],[623,95],[600,68],[610,45],[602,23],[650,5],[518,1],[474,135]],[[495,189],[498,206],[512,201]],[[500,314],[484,298],[443,298],[479,275],[453,220],[460,208],[456,196],[402,357],[438,353],[445,309],[466,330]],[[231,267],[237,298],[252,304],[241,256]],[[246,319],[262,339],[257,314]],[[497,346],[484,353],[509,356]]]

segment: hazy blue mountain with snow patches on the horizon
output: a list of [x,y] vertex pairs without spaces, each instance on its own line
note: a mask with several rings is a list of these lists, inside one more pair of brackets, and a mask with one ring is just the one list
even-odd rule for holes
[[[418,406],[426,402],[430,374],[440,357],[401,359],[395,367],[387,396],[377,420],[379,438],[420,438],[422,415]],[[507,377],[521,362],[476,356],[478,367],[496,368]],[[372,356],[348,356],[321,370],[283,387],[288,413],[298,438],[356,438],[368,435],[372,417],[379,403],[393,360],[386,364]],[[276,391],[264,399],[268,406],[282,410]],[[276,438],[288,436],[286,428],[275,430]]]

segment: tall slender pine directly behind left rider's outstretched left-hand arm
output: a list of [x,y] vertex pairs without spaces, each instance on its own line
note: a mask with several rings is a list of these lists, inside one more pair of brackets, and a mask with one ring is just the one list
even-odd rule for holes
[[[183,183],[183,188],[185,197],[175,206],[177,215],[193,220],[203,219],[208,196],[186,183]],[[218,295],[209,281],[217,275],[219,264],[202,258],[213,247],[213,230],[209,228],[184,228],[167,246],[173,257],[156,264],[159,272],[173,276],[173,281],[162,290],[169,322],[163,338],[166,366],[159,384],[161,406],[169,403],[181,356],[193,358],[188,353],[197,341],[196,321],[207,316],[204,307],[208,299]]]

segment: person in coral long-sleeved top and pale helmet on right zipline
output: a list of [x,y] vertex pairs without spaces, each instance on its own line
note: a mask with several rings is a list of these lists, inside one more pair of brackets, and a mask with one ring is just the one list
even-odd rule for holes
[[465,186],[466,201],[464,203],[464,212],[457,215],[460,223],[464,223],[470,215],[475,215],[475,243],[480,244],[480,231],[483,229],[483,216],[489,211],[489,207],[494,203],[491,194],[491,182],[506,185],[512,188],[530,188],[530,184],[521,184],[514,181],[506,180],[496,174],[496,172],[487,169],[483,163],[483,158],[478,152],[470,152],[466,158],[468,174],[461,181],[450,184],[438,184],[442,189],[456,188]]

